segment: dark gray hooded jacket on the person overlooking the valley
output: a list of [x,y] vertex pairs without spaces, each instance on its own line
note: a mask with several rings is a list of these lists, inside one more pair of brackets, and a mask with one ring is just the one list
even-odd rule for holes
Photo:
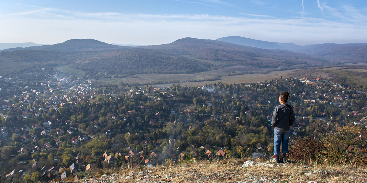
[[290,130],[295,122],[294,111],[288,104],[275,107],[272,117],[272,126],[277,130]]

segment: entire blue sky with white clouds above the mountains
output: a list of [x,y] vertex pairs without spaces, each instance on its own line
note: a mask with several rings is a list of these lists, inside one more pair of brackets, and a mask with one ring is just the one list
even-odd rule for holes
[[367,0],[1,0],[0,43],[367,43]]

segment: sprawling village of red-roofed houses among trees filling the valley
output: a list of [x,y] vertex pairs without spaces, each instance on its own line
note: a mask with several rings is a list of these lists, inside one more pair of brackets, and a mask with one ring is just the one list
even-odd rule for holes
[[[102,168],[167,158],[269,155],[276,88],[296,98],[294,136],[310,135],[306,126],[315,120],[367,125],[366,94],[322,79],[154,88],[96,86],[93,78],[59,75],[45,75],[43,83],[0,77],[3,181],[78,180]],[[248,133],[256,135],[239,137]]]

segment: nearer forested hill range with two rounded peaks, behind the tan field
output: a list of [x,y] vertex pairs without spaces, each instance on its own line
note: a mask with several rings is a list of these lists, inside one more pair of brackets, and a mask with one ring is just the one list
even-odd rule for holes
[[[0,52],[0,73],[35,65],[63,64],[113,75],[137,73],[195,73],[243,65],[248,71],[294,69],[327,65],[326,60],[279,49],[260,49],[221,42],[183,38],[169,44],[127,47],[94,39],[71,39],[63,43],[6,49]],[[256,69],[258,68],[258,69]]]

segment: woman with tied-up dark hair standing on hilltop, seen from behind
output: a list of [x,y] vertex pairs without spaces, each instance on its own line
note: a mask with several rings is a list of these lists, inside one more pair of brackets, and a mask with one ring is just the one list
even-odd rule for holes
[[[290,128],[295,122],[294,111],[287,103],[290,98],[288,92],[279,94],[280,105],[275,107],[272,118],[272,126],[274,126],[274,155],[277,163],[286,162],[286,154],[288,151]],[[281,152],[283,155],[279,157]]]

